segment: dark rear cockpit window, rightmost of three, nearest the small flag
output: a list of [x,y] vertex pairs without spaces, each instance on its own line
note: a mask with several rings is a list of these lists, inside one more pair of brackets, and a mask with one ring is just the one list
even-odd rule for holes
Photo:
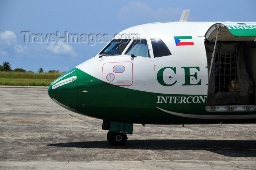
[[163,57],[172,55],[165,43],[161,39],[151,39],[154,57]]

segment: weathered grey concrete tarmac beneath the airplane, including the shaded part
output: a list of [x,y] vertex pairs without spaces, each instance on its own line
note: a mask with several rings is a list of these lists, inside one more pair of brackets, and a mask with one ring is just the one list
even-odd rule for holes
[[256,170],[255,124],[134,124],[117,147],[47,90],[0,86],[0,170]]

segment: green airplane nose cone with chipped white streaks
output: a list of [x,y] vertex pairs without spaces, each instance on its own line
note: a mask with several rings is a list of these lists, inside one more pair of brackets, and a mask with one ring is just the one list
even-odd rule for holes
[[72,111],[76,109],[77,93],[75,68],[54,80],[48,88],[48,95],[54,102]]

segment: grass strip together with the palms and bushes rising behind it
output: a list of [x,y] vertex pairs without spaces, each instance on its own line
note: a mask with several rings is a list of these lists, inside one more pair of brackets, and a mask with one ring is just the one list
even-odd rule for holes
[[4,61],[0,65],[0,85],[6,86],[49,86],[53,80],[63,73],[59,70],[50,70],[44,73],[43,68],[38,69],[38,73],[26,71],[22,68],[11,69],[11,64]]

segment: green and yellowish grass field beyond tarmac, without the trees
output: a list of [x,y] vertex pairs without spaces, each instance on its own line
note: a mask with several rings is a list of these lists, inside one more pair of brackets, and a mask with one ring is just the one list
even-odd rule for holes
[[49,86],[63,73],[33,73],[0,71],[0,85],[6,86]]

